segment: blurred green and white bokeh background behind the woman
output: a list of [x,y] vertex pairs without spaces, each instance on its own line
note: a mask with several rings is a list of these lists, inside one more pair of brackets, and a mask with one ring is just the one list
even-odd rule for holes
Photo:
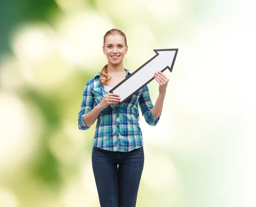
[[131,72],[179,48],[159,123],[140,119],[137,207],[253,206],[254,17],[250,0],[1,0],[0,207],[99,207],[95,125],[77,119],[111,28],[127,36]]

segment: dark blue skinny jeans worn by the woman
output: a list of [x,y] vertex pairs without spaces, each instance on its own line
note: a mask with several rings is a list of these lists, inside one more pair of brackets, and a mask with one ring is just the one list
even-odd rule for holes
[[93,174],[101,207],[135,207],[144,150],[113,152],[93,147]]

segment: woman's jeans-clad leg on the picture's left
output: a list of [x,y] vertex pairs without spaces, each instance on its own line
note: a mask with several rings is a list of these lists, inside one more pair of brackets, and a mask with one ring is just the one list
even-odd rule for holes
[[119,207],[116,152],[93,147],[93,174],[101,207]]

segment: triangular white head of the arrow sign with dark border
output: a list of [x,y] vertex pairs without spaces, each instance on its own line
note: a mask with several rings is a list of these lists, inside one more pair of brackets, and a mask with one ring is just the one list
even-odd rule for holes
[[158,49],[154,50],[157,54],[157,59],[162,62],[172,72],[178,49]]

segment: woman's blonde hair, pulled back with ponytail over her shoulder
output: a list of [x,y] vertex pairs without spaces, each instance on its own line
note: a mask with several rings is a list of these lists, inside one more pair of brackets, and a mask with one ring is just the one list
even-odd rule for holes
[[[103,37],[103,46],[105,45],[105,40],[106,40],[106,37],[108,35],[120,35],[120,36],[123,36],[125,38],[125,46],[127,47],[127,40],[126,40],[126,36],[125,36],[125,33],[123,33],[121,30],[119,29],[111,29],[109,31],[106,32],[106,34],[104,35]],[[105,65],[103,68],[102,68],[102,71],[100,73],[100,77],[99,77],[99,82],[100,84],[102,85],[106,85],[108,83],[108,81],[111,79],[111,77],[108,76],[108,65]]]

